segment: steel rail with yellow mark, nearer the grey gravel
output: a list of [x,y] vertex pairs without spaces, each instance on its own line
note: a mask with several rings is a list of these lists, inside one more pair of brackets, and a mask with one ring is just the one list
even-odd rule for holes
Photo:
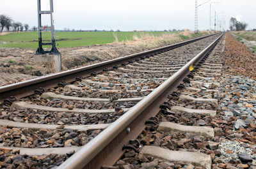
[[179,71],[174,73],[172,77],[168,78],[163,84],[159,85],[148,96],[132,107],[131,110],[84,145],[80,151],[68,158],[58,169],[92,169],[100,168],[102,165],[113,165],[124,154],[122,146],[130,139],[140,135],[141,131],[145,128],[145,121],[159,112],[159,105],[166,100],[166,96],[171,94],[184,77],[189,74],[189,67],[199,62],[205,55],[211,52],[222,35],[218,36],[211,45],[202,50],[185,66],[180,68]]

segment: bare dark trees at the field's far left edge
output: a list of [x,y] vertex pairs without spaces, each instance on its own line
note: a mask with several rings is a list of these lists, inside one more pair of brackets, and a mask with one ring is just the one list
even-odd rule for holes
[[14,22],[11,17],[7,15],[0,15],[0,33],[3,32],[4,28],[6,31],[10,31],[13,28],[13,31],[28,31],[28,24],[22,24],[21,22]]

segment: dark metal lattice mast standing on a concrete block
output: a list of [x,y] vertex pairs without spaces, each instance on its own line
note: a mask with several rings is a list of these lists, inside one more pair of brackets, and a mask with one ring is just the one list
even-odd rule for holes
[[[37,0],[37,9],[38,9],[38,48],[36,50],[36,54],[60,54],[58,49],[56,48],[55,43],[55,31],[54,31],[54,17],[53,17],[53,0],[50,0],[50,11],[41,11],[41,0]],[[52,35],[52,42],[51,43],[44,43],[42,41],[42,15],[50,14],[51,15],[51,35]],[[50,51],[45,51],[43,45],[51,45],[52,48]]]

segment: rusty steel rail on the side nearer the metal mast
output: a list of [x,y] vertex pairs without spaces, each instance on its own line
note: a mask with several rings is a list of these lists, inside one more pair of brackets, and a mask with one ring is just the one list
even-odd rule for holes
[[145,57],[147,55],[158,54],[159,52],[171,50],[194,41],[202,40],[214,34],[209,34],[207,36],[202,36],[200,38],[195,38],[193,40],[182,41],[180,43],[175,43],[173,45],[168,45],[165,47],[160,47],[152,50],[147,50],[145,52],[140,52],[138,54],[127,55],[124,57],[118,57],[110,61],[99,62],[92,64],[90,66],[84,66],[81,68],[76,68],[74,70],[63,71],[61,73],[56,73],[54,75],[47,75],[45,77],[39,77],[31,80],[26,80],[24,82],[19,82],[17,84],[10,84],[0,87],[0,102],[4,99],[10,98],[10,96],[15,96],[16,98],[24,98],[34,93],[36,89],[43,87],[45,89],[50,89],[52,87],[58,86],[58,83],[65,81],[67,83],[76,81],[77,77],[88,77],[90,73],[100,72],[104,68],[113,68],[115,65],[120,65],[123,62],[131,61],[136,58]]

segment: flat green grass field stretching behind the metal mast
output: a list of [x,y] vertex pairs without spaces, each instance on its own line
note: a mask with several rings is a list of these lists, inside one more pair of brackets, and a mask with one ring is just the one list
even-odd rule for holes
[[[116,41],[132,40],[132,37],[140,38],[143,34],[161,36],[177,32],[56,32],[56,45],[58,48],[81,47],[96,44],[113,43]],[[42,33],[43,41],[50,42],[51,33]],[[36,48],[38,47],[38,33],[11,33],[0,36],[0,47]]]

